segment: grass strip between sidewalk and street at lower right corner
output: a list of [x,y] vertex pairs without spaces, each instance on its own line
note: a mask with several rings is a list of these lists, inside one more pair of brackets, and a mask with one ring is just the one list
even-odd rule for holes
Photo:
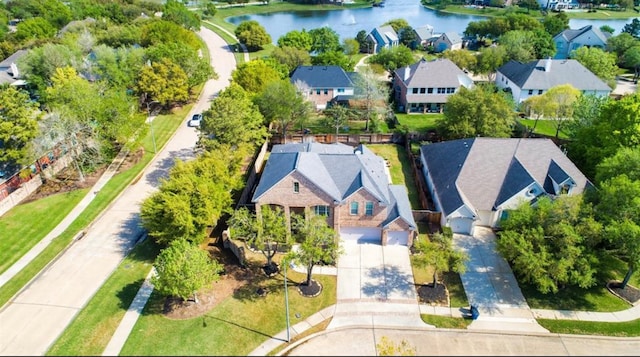
[[570,320],[537,319],[536,321],[551,333],[616,337],[640,336],[640,323],[638,323],[638,320],[628,322],[576,322]]

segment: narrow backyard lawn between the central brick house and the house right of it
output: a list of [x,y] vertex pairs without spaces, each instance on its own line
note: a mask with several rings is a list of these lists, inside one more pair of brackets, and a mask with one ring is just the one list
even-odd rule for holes
[[394,185],[405,185],[409,195],[409,202],[413,209],[420,208],[418,189],[411,170],[411,161],[404,146],[398,144],[370,144],[367,145],[376,155],[389,161],[389,172]]

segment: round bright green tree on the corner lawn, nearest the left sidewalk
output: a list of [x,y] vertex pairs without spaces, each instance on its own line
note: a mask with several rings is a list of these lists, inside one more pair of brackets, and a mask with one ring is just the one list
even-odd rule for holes
[[160,294],[186,301],[193,296],[198,303],[198,291],[220,278],[223,266],[211,259],[197,245],[177,239],[163,249],[153,263],[156,274],[151,283]]

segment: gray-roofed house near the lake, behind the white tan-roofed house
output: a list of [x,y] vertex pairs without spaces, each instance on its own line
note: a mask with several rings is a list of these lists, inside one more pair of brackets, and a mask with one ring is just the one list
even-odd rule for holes
[[607,40],[611,37],[608,32],[602,32],[593,25],[587,25],[579,29],[567,29],[553,38],[556,44],[555,59],[565,59],[571,57],[571,51],[580,47],[597,47],[604,50],[607,47]]

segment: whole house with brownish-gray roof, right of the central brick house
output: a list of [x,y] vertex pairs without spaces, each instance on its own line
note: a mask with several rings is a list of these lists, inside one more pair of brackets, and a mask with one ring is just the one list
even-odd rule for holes
[[591,182],[550,139],[469,138],[423,145],[422,173],[441,225],[473,234],[541,196],[576,195]]

